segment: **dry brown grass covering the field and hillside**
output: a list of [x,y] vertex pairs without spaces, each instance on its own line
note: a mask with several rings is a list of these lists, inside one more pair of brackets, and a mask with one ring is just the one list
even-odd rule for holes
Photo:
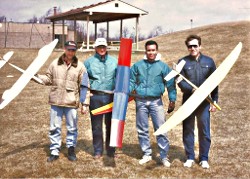
[[[249,178],[250,177],[250,122],[249,122],[249,34],[250,22],[233,22],[175,32],[155,38],[165,61],[173,61],[187,54],[184,39],[190,33],[201,35],[203,52],[219,65],[229,52],[241,41],[242,53],[225,80],[220,84],[219,104],[222,111],[212,115],[211,168],[201,169],[196,164],[192,169],[183,168],[185,155],[182,144],[182,128],[177,126],[169,132],[171,168],[163,168],[157,162],[158,150],[151,135],[154,159],[145,166],[138,164],[141,151],[135,129],[134,102],[127,111],[123,148],[117,151],[119,158],[103,160],[92,158],[92,137],[89,115],[79,115],[79,138],[77,162],[67,159],[65,140],[60,159],[47,163],[49,156],[49,109],[47,104],[49,87],[30,82],[22,93],[6,108],[0,111],[0,177],[2,178]],[[142,47],[143,44],[140,44]],[[1,56],[11,49],[0,49]],[[22,68],[27,68],[36,50],[14,49],[10,60]],[[51,60],[61,52],[53,52],[48,62],[40,70],[46,71]],[[82,60],[89,54],[78,53]],[[118,55],[114,53],[114,55]],[[133,62],[142,57],[132,55]],[[6,78],[7,75],[13,78]],[[18,79],[20,73],[5,65],[0,70],[0,94]],[[178,91],[178,109],[181,92]],[[165,100],[167,101],[167,100]],[[167,103],[167,102],[166,102]],[[151,134],[152,134],[151,128]],[[65,139],[65,126],[63,137]]]

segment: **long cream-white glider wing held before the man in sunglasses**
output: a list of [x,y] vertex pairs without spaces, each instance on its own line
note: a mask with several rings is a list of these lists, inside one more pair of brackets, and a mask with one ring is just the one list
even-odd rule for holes
[[202,103],[202,101],[226,77],[242,49],[240,42],[221,65],[207,78],[207,80],[188,98],[188,100],[154,133],[160,135],[174,128],[185,120]]

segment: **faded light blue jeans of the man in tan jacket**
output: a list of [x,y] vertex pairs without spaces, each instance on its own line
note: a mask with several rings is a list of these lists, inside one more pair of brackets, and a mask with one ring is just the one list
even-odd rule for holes
[[52,155],[59,155],[61,144],[62,144],[62,118],[65,115],[66,118],[66,128],[67,128],[67,137],[66,137],[66,147],[71,146],[76,147],[77,143],[77,109],[60,107],[60,106],[51,106],[50,111],[50,151]]

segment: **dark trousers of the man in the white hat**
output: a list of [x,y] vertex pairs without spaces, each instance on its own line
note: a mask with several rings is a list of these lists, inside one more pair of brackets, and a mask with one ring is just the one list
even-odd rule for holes
[[[106,104],[113,102],[113,95],[109,94],[93,94],[90,97],[90,111],[96,108],[102,107]],[[111,131],[111,118],[112,113],[100,114],[100,115],[92,115],[91,117],[91,126],[92,126],[92,136],[93,136],[93,146],[94,146],[94,155],[102,155],[103,154],[103,120],[105,122],[105,131],[106,131],[106,139],[105,139],[105,149],[108,155],[113,155],[115,152],[114,147],[109,146],[110,142],[110,131]]]

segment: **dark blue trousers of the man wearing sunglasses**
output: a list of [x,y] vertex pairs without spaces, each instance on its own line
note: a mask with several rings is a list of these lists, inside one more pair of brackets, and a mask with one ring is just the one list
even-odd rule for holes
[[199,138],[199,161],[208,161],[208,153],[211,145],[209,108],[210,104],[205,101],[183,121],[183,144],[187,159],[195,159],[194,123],[196,117]]

